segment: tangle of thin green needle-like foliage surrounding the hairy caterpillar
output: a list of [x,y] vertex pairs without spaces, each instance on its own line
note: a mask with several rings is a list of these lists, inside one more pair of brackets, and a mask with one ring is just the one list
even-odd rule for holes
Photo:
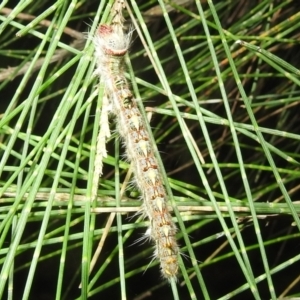
[[[112,0],[0,4],[0,298],[300,297],[297,1],[128,0],[127,76],[178,226],[169,283],[113,118],[93,199]],[[85,33],[83,33],[85,32]]]

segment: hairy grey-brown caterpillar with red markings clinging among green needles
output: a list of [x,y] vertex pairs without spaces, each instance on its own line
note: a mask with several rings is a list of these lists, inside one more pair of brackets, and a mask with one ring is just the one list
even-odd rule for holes
[[124,56],[131,34],[123,31],[120,10],[116,16],[114,19],[118,21],[100,25],[93,38],[97,57],[95,73],[102,77],[127,157],[134,165],[135,182],[144,200],[144,214],[150,220],[147,235],[154,240],[154,255],[160,261],[163,276],[176,279],[179,253],[176,226],[167,208],[166,191],[145,120],[124,75]]

